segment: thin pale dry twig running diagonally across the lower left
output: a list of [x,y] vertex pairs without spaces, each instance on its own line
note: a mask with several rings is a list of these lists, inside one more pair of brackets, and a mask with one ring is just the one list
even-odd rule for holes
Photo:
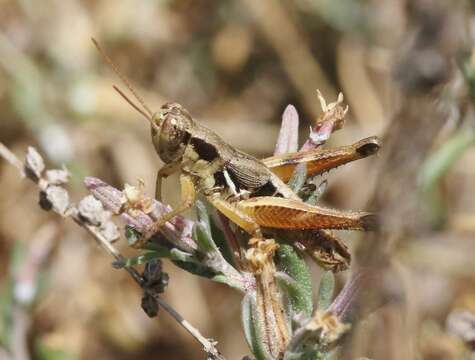
[[[4,144],[0,142],[0,157],[3,157],[11,165],[15,166],[21,173],[22,176],[25,175],[23,169],[23,163],[13,154],[10,149],[8,149]],[[31,178],[30,178],[31,179]],[[34,181],[34,179],[31,179]],[[39,186],[39,181],[34,181],[36,185]],[[99,229],[93,225],[86,223],[80,216],[79,211],[75,207],[70,207],[68,210],[68,215],[74,220],[76,224],[86,229],[97,241],[97,243],[114,259],[118,260],[121,263],[125,262],[124,256],[117,250],[99,231]],[[124,269],[130,274],[130,276],[135,280],[135,282],[142,287],[142,276],[140,273],[131,266],[125,266]],[[156,301],[162,306],[162,308],[173,317],[190,335],[192,335],[202,346],[204,351],[208,354],[208,359],[211,360],[225,360],[225,358],[220,354],[218,349],[215,346],[215,343],[206,337],[204,337],[200,331],[186,321],[173,307],[168,304],[165,300],[154,294]]]

